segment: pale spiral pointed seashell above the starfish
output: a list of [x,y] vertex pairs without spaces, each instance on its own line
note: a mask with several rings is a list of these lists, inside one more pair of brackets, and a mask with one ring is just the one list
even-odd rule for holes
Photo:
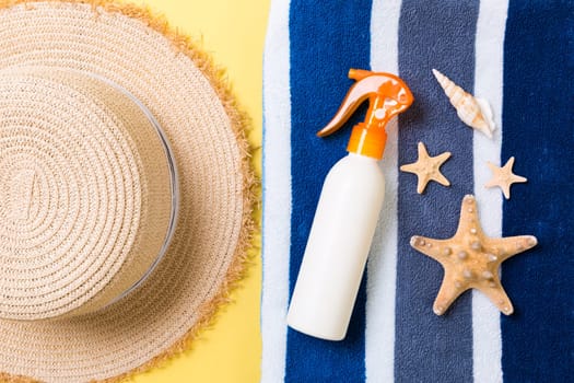
[[482,131],[488,138],[492,138],[495,125],[489,103],[465,92],[436,69],[433,69],[433,74],[455,107],[458,118],[471,128]]

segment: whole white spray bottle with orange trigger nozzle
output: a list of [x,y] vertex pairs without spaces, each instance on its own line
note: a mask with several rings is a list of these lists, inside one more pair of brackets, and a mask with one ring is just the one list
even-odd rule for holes
[[343,126],[368,98],[365,121],[355,125],[347,151],[329,171],[303,256],[288,324],[304,334],[341,340],[347,334],[385,195],[378,166],[385,126],[413,102],[409,88],[389,73],[351,69],[356,82],[332,120],[317,136]]

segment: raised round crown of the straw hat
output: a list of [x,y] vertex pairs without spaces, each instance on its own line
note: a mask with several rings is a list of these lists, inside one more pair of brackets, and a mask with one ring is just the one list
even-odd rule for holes
[[167,152],[139,106],[97,79],[1,71],[0,175],[4,318],[102,309],[167,237]]

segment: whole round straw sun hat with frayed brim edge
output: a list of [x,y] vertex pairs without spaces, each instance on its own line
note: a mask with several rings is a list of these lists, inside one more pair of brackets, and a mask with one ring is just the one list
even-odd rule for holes
[[112,1],[0,1],[0,381],[184,348],[250,246],[245,118],[203,54]]

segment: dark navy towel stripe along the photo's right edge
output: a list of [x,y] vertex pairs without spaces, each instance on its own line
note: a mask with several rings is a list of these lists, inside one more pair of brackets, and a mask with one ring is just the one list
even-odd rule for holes
[[528,178],[503,207],[504,235],[539,245],[503,264],[515,313],[502,317],[505,382],[574,376],[574,4],[511,1],[502,163]]

